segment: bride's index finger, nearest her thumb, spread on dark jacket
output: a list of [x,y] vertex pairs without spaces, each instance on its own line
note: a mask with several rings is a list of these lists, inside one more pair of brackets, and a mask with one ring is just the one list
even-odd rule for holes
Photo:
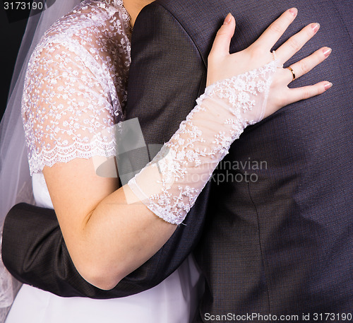
[[297,16],[298,10],[297,8],[290,8],[282,15],[280,18],[277,18],[270,26],[263,32],[263,34],[258,37],[258,40],[254,43],[254,45],[261,45],[265,47],[265,49],[270,50],[273,45],[280,39],[280,37],[285,33],[288,26],[293,22],[295,17]]

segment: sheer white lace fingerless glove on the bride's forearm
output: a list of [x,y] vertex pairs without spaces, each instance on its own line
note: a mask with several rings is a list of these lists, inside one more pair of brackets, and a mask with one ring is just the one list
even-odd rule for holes
[[184,221],[233,141],[263,119],[278,65],[273,60],[205,89],[172,139],[128,182],[148,209],[169,223]]

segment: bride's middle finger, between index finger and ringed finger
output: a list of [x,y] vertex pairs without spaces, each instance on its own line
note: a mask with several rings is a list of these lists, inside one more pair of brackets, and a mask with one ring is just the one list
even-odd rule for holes
[[290,59],[296,52],[303,47],[308,40],[318,32],[320,25],[318,23],[311,23],[307,25],[299,33],[293,35],[287,40],[282,46],[276,50],[277,59],[280,62],[285,63]]

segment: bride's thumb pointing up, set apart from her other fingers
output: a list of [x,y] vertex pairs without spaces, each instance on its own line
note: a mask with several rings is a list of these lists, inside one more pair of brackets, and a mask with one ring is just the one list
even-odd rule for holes
[[235,19],[231,13],[228,13],[225,21],[218,30],[210,51],[210,57],[221,57],[229,54],[230,41],[234,35]]

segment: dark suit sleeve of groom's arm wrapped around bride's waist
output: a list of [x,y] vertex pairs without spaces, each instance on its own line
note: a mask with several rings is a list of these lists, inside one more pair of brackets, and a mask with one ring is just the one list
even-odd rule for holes
[[[145,142],[167,141],[195,105],[205,67],[184,28],[157,4],[134,27],[126,117],[138,117]],[[201,84],[201,86],[200,86]],[[206,186],[170,240],[114,289],[100,290],[76,271],[55,213],[28,204],[11,209],[4,223],[2,257],[19,281],[64,297],[119,298],[156,286],[191,252],[203,226]]]

